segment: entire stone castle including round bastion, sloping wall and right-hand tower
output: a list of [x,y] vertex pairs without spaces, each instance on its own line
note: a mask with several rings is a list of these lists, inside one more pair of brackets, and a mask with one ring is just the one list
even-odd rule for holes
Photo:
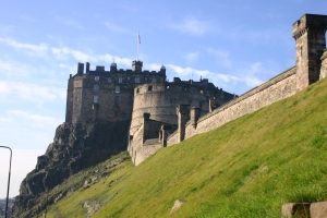
[[[134,165],[159,148],[210,131],[243,114],[301,92],[327,75],[325,33],[327,16],[304,14],[292,25],[296,62],[287,71],[241,96],[199,82],[167,82],[166,68],[143,71],[142,61],[132,70],[118,70],[113,62],[89,70],[78,63],[68,84],[65,122],[129,121],[128,150]],[[110,134],[110,133],[108,133]]]

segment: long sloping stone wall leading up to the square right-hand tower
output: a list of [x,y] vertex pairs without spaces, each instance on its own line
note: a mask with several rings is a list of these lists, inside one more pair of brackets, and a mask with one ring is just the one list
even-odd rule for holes
[[[199,118],[196,129],[189,121],[185,126],[185,138],[214,130],[231,120],[290,97],[295,93],[295,68],[293,66],[239,98]],[[169,140],[174,141],[174,137]],[[171,145],[172,142],[168,142],[168,144]]]

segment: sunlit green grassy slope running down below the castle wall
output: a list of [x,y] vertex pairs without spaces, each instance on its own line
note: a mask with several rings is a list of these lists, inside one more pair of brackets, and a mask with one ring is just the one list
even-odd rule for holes
[[[51,216],[280,217],[287,202],[327,199],[327,80],[205,134],[125,161],[52,206]],[[108,184],[111,182],[111,186]],[[177,198],[186,203],[174,214]]]

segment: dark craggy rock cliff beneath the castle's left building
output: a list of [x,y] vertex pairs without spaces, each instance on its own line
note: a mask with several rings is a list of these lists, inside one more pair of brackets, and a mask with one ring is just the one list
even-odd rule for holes
[[13,216],[32,217],[37,213],[32,208],[40,203],[46,192],[80,170],[125,150],[128,130],[128,121],[59,125],[53,143],[23,180]]

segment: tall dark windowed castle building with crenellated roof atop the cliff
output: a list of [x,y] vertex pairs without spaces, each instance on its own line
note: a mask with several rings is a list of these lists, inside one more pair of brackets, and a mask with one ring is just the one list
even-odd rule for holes
[[144,83],[164,83],[166,68],[160,71],[142,71],[143,62],[133,61],[133,70],[118,70],[112,63],[110,71],[105,66],[89,70],[89,63],[78,63],[77,73],[70,75],[65,121],[88,123],[93,120],[131,121],[134,87]]

